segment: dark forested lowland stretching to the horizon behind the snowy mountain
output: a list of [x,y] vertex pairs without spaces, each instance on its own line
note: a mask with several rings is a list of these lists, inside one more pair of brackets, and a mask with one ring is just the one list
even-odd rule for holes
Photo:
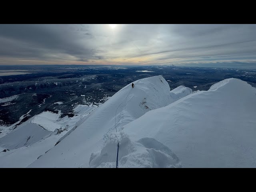
[[[162,75],[180,85],[208,90],[226,78],[256,87],[256,70],[181,66],[0,66],[0,123],[10,126],[43,111],[72,116],[78,104],[98,106],[135,80]],[[1,130],[0,130],[1,131]]]

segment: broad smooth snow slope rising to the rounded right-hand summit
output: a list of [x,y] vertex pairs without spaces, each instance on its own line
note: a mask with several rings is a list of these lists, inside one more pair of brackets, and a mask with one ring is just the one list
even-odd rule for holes
[[230,78],[152,110],[122,132],[131,142],[154,138],[182,167],[255,167],[255,109],[256,89]]

